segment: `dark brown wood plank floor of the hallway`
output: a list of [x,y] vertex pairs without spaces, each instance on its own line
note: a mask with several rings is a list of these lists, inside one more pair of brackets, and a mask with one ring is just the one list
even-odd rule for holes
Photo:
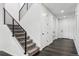
[[72,39],[58,38],[45,47],[37,56],[77,56],[77,51]]

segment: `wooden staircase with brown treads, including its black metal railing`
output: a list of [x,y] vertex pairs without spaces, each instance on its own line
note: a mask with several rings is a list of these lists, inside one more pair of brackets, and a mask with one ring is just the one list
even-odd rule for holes
[[[6,22],[5,20],[8,22]],[[17,39],[18,43],[25,50],[24,54],[32,56],[39,52],[39,47],[36,46],[30,36],[27,36],[27,32],[20,26],[20,24],[10,15],[10,13],[5,8],[4,21],[4,24],[6,24],[11,30],[13,37]]]

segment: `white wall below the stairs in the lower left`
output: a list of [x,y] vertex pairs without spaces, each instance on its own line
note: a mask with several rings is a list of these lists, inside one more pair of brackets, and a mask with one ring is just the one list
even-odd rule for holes
[[14,56],[23,56],[24,50],[6,25],[0,25],[0,50]]

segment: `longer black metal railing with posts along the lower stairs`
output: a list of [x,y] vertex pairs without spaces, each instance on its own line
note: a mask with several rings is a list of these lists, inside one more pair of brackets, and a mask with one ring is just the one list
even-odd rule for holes
[[[12,35],[13,35],[13,37],[15,36],[15,25],[18,25],[21,29],[23,29],[21,26],[20,26],[20,24],[11,16],[11,14],[5,9],[5,8],[3,8],[3,10],[4,10],[4,24],[6,24],[6,25],[12,25]],[[25,33],[25,52],[24,52],[24,54],[26,54],[26,52],[27,52],[27,38],[26,38],[26,36],[27,36],[27,33],[26,33],[26,31],[23,29],[23,31],[24,31],[24,33]]]

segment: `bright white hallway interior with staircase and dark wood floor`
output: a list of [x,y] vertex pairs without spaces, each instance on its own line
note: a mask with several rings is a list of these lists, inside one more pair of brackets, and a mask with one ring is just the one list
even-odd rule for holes
[[79,4],[4,4],[1,4],[1,50],[15,56],[79,55]]

